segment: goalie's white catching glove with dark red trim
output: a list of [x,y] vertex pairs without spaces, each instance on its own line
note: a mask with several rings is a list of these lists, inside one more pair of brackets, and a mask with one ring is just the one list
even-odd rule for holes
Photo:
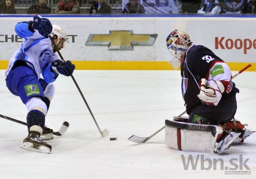
[[217,106],[225,90],[221,81],[201,79],[200,93],[197,95],[202,103]]

